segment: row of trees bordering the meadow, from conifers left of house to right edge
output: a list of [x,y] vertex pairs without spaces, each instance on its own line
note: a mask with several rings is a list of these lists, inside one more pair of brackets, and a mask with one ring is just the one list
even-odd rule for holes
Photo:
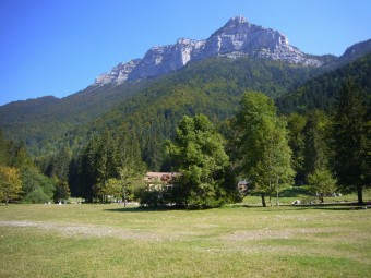
[[[356,191],[362,203],[362,189],[370,185],[371,178],[371,122],[366,100],[348,80],[330,114],[313,110],[282,117],[273,99],[250,92],[236,114],[218,124],[203,114],[185,116],[170,140],[156,143],[161,152],[153,159],[164,170],[180,172],[176,186],[166,194],[143,189],[148,154],[141,149],[137,131],[128,125],[116,134],[106,131],[82,153],[76,168],[84,186],[81,193],[87,200],[104,201],[105,189],[113,183],[121,184],[121,191],[127,186],[122,192],[143,204],[213,207],[238,201],[241,195],[236,185],[244,179],[261,194],[263,205],[265,196],[272,204],[272,197],[294,182],[310,183],[322,201],[335,191]],[[120,173],[122,169],[127,174]]]

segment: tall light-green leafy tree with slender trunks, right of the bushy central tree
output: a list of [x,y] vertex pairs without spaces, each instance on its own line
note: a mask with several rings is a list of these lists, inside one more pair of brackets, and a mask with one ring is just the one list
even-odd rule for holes
[[240,172],[251,179],[255,192],[261,193],[263,206],[266,206],[265,195],[271,201],[274,192],[278,204],[279,189],[294,176],[285,125],[271,98],[259,92],[244,94],[236,121]]

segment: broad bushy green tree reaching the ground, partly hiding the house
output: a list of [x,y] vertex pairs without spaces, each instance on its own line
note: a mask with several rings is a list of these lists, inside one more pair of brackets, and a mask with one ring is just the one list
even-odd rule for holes
[[167,142],[180,172],[176,201],[188,207],[216,207],[224,203],[224,170],[229,158],[224,140],[206,116],[184,117],[173,142]]

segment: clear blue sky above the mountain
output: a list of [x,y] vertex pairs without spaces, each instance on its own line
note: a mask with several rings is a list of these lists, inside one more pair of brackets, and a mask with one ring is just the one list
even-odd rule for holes
[[230,17],[285,34],[307,53],[340,56],[371,38],[370,0],[0,0],[0,105],[84,89],[119,62]]

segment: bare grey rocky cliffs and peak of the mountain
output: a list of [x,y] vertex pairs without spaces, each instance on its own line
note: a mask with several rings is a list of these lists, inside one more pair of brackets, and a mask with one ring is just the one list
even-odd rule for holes
[[249,23],[243,16],[235,16],[206,40],[180,38],[175,45],[153,47],[142,59],[120,63],[111,72],[99,75],[93,85],[156,77],[177,71],[190,61],[215,56],[251,56],[310,67],[323,63],[290,46],[279,32]]

